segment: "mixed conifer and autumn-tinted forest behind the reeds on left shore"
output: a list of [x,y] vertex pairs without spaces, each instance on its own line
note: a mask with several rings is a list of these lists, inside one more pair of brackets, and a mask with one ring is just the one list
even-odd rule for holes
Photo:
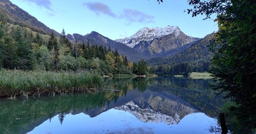
[[[8,33],[6,31],[9,31]],[[79,71],[99,75],[147,75],[144,60],[128,61],[117,50],[91,44],[71,43],[63,29],[60,37],[39,34],[28,28],[10,25],[1,15],[0,67],[4,69]]]

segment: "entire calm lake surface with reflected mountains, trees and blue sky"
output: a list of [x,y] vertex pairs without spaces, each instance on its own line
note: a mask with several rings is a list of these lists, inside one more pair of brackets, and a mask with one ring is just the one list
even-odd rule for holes
[[107,89],[0,100],[0,133],[219,133],[210,80],[105,79]]

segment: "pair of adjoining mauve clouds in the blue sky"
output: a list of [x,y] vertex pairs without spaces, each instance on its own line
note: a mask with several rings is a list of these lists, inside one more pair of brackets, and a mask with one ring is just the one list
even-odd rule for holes
[[88,2],[83,3],[84,7],[87,7],[89,10],[93,11],[95,14],[105,14],[114,18],[124,18],[128,21],[128,24],[133,22],[137,23],[154,23],[154,16],[147,15],[138,10],[124,9],[120,15],[115,14],[108,5],[99,2]]

